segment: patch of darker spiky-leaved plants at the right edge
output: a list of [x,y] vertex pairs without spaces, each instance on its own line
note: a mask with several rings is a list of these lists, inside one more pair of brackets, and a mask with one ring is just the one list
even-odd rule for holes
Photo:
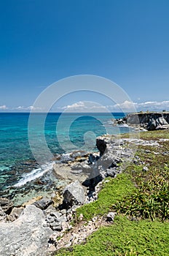
[[149,165],[152,161],[148,173],[143,172],[142,165],[127,168],[126,171],[133,174],[137,191],[118,201],[114,206],[117,212],[143,219],[169,219],[169,165],[164,157],[162,162],[160,154],[155,156],[146,158]]

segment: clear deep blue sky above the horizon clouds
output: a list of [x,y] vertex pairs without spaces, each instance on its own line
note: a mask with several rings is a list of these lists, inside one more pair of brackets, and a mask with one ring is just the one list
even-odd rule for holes
[[0,1],[0,110],[29,110],[51,83],[81,74],[113,80],[138,108],[169,108],[168,10],[168,0]]

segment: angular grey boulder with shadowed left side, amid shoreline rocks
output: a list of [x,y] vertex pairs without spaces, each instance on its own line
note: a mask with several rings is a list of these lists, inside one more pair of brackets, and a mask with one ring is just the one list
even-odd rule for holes
[[64,203],[68,206],[84,203],[84,189],[79,181],[74,181],[63,189],[63,198]]

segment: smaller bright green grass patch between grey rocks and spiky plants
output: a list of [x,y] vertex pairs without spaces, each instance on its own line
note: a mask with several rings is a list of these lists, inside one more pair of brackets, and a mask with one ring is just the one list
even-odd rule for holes
[[95,215],[102,216],[108,213],[117,200],[122,200],[126,195],[131,195],[135,191],[135,187],[128,174],[122,173],[117,178],[106,178],[103,188],[98,195],[98,200],[93,203],[86,204],[77,208],[76,214],[83,214],[84,219],[92,219]]

